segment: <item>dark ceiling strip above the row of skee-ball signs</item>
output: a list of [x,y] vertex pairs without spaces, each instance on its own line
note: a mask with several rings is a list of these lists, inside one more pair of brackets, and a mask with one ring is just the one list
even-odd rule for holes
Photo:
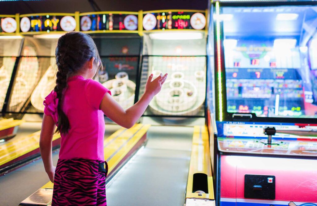
[[[95,3],[95,5],[94,5]],[[74,13],[97,11],[138,11],[163,9],[205,10],[208,0],[40,0],[2,1],[0,14]],[[95,9],[94,9],[95,8]]]

